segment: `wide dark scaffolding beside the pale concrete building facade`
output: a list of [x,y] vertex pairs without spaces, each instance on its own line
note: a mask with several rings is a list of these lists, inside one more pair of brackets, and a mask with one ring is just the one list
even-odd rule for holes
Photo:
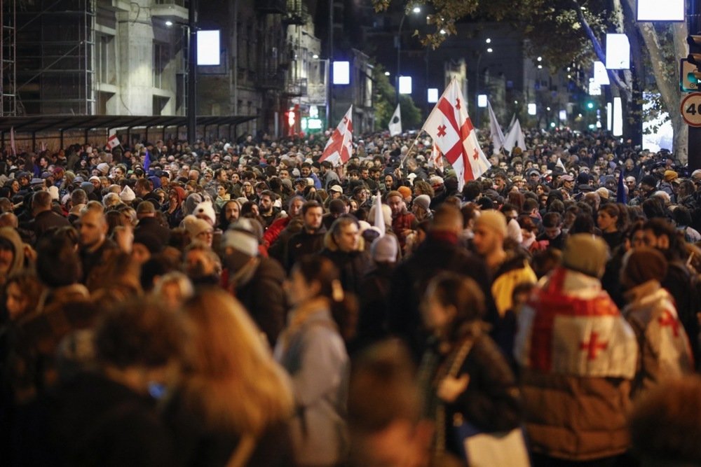
[[20,4],[15,23],[17,115],[95,113],[95,12],[95,0]]

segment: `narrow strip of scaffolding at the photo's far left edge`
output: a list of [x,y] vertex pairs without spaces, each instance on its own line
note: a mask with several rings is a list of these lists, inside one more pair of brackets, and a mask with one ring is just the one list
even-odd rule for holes
[[0,24],[2,39],[0,44],[0,85],[2,99],[0,100],[0,116],[14,117],[17,115],[17,96],[15,95],[15,0],[0,0]]

